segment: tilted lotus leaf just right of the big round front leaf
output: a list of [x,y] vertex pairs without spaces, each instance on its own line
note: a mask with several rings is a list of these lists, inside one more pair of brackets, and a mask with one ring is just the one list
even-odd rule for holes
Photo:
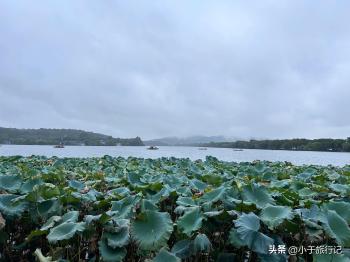
[[202,226],[203,218],[200,207],[190,208],[178,219],[177,225],[183,233],[191,236],[193,231],[198,230]]

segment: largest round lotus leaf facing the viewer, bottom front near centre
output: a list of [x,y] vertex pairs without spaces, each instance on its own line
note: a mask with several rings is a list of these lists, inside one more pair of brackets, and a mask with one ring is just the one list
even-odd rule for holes
[[170,215],[164,212],[147,210],[131,223],[131,235],[144,250],[166,245],[172,231]]

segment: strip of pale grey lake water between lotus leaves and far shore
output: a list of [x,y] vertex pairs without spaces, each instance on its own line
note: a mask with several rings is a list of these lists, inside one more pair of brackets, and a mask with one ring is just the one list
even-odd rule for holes
[[205,159],[206,156],[215,156],[220,160],[244,162],[253,160],[289,161],[297,165],[317,164],[344,166],[350,164],[350,153],[338,152],[310,152],[310,151],[283,151],[283,150],[255,150],[245,149],[234,151],[229,148],[208,148],[199,150],[197,147],[161,146],[159,150],[147,150],[147,147],[132,146],[53,146],[37,145],[1,145],[0,155],[42,155],[58,157],[99,157],[104,155],[122,157],[178,157],[192,160]]

